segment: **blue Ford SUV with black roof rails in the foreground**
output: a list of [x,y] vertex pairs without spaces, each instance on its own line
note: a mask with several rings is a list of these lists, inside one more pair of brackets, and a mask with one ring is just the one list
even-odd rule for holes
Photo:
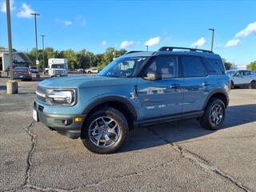
[[218,130],[229,91],[230,78],[218,54],[166,46],[130,51],[96,77],[40,82],[33,116],[59,134],[81,138],[90,151],[107,154],[138,126],[197,118],[202,127]]

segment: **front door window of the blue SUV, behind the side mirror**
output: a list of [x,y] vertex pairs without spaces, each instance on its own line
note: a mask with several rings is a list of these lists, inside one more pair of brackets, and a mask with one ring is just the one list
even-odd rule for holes
[[162,78],[177,78],[178,63],[176,56],[159,55],[157,58],[154,58],[146,70],[146,72],[149,71],[157,71],[162,75]]

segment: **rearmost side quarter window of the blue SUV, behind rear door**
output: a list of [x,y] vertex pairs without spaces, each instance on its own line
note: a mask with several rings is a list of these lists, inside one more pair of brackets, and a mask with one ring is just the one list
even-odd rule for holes
[[221,59],[205,58],[206,70],[209,74],[225,74],[224,65]]

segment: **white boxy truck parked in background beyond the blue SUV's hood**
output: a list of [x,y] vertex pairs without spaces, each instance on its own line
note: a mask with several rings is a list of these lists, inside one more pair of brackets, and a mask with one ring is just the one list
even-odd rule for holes
[[69,65],[66,58],[48,59],[49,77],[67,76]]

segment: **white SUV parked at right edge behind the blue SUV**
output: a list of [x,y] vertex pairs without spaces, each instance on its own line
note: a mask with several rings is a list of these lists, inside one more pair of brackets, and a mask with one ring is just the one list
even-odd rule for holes
[[256,89],[256,74],[250,70],[227,70],[230,75],[231,87],[247,86],[250,89]]

